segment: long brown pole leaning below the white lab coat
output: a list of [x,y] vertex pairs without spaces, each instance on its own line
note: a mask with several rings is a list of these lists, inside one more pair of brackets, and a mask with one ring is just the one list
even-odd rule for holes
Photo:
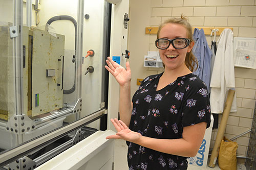
[[216,161],[217,161],[217,157],[219,154],[219,149],[220,149],[220,144],[221,144],[221,139],[224,136],[224,132],[226,130],[226,125],[227,125],[227,119],[229,116],[229,112],[232,106],[232,102],[233,102],[233,98],[234,98],[234,90],[228,90],[228,94],[227,94],[227,100],[225,103],[225,108],[223,111],[223,115],[221,118],[221,124],[217,133],[217,137],[214,143],[214,149],[211,152],[211,156],[210,156],[210,162],[209,162],[209,167],[215,167]]

